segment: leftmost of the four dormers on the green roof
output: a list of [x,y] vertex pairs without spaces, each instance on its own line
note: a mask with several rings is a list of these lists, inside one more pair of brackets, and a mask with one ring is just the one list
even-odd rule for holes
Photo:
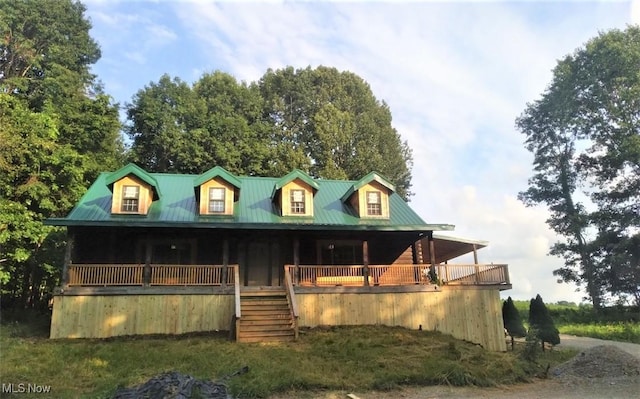
[[160,198],[156,179],[132,163],[109,174],[105,183],[113,193],[112,215],[146,215],[151,203]]

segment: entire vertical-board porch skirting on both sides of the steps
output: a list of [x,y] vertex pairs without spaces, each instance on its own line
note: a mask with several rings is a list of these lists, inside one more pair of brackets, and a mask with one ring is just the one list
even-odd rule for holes
[[[415,330],[422,326],[487,350],[506,350],[496,289],[296,292],[295,300],[299,327],[388,325]],[[228,331],[234,307],[233,294],[58,295],[51,338]]]

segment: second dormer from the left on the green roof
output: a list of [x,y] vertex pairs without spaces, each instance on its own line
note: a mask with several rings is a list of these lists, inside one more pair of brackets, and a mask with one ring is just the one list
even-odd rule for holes
[[240,180],[216,166],[198,176],[193,187],[200,215],[233,215],[233,204],[240,199]]

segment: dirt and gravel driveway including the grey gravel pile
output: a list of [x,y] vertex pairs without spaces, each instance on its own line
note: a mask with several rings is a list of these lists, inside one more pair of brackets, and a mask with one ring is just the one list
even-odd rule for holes
[[573,359],[549,370],[547,379],[497,388],[416,387],[392,392],[293,392],[272,399],[628,399],[640,398],[640,345],[561,335],[559,348]]

